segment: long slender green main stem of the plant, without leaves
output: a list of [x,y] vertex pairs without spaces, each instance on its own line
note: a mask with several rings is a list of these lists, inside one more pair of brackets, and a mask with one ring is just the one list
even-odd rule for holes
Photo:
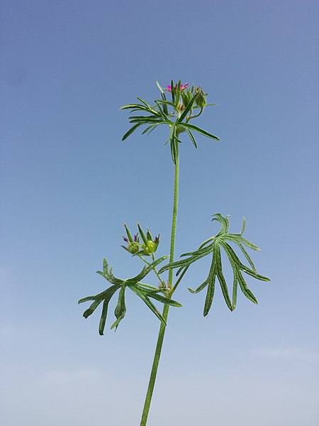
[[[171,248],[169,251],[169,263],[174,261],[174,249],[175,249],[175,236],[176,236],[176,224],[177,224],[177,206],[179,199],[179,144],[177,143],[177,155],[176,155],[176,164],[174,171],[174,202],[173,202],[173,215],[172,215],[172,231],[171,231]],[[169,280],[168,280],[169,289],[173,288],[173,270],[169,270]],[[172,293],[169,293],[168,297],[172,297]],[[167,322],[169,312],[169,305],[164,305],[162,316]],[[152,394],[154,391],[155,380],[157,375],[157,369],[159,364],[159,357],[161,356],[164,334],[166,326],[161,322],[159,327],[159,334],[157,337],[157,344],[155,349],[154,360],[152,364],[152,370],[150,373],[150,381],[148,383],[147,393],[145,397],[144,408],[142,412],[142,419],[140,420],[140,426],[146,426],[148,413],[150,411],[150,403],[152,401]]]

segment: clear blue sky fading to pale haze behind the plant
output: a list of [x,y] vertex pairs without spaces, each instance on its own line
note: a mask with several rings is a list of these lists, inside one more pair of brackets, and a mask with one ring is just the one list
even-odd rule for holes
[[[5,426],[134,426],[159,321],[130,296],[116,333],[77,300],[128,278],[123,222],[169,249],[167,133],[134,133],[123,104],[181,79],[209,93],[181,145],[177,253],[218,231],[259,246],[235,312],[203,318],[191,268],[170,311],[149,425],[317,426],[318,1],[1,1],[1,414]],[[156,284],[156,282],[154,282]],[[167,420],[168,417],[168,420]]]

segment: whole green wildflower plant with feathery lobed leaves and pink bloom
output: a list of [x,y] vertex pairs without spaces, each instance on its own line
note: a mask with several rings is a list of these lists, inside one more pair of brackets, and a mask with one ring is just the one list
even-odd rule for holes
[[[218,136],[213,135],[213,133],[203,130],[193,124],[193,120],[201,116],[206,107],[214,105],[206,102],[208,94],[203,91],[202,87],[194,85],[189,87],[189,84],[181,84],[181,81],[174,84],[173,80],[165,89],[163,89],[158,82],[157,87],[160,92],[160,97],[159,99],[155,99],[152,105],[138,97],[138,103],[121,107],[121,109],[130,110],[131,115],[129,121],[130,124],[133,124],[124,134],[122,140],[125,141],[135,130],[142,126],[142,134],[150,134],[157,126],[164,125],[168,127],[167,133],[169,136],[165,144],[169,144],[170,146],[172,162],[174,163],[174,196],[169,256],[156,257],[156,251],[159,245],[159,234],[153,237],[149,229],[146,231],[143,230],[138,223],[136,234],[132,236],[128,226],[124,224],[126,235],[123,236],[125,245],[122,247],[125,251],[128,251],[131,257],[140,258],[144,263],[142,270],[133,278],[117,278],[113,275],[113,268],[108,266],[106,259],[103,259],[103,271],[98,271],[98,273],[102,275],[110,285],[102,293],[84,297],[79,300],[79,303],[91,302],[91,305],[83,314],[85,318],[89,317],[99,305],[102,305],[101,320],[99,322],[99,334],[101,335],[106,326],[108,304],[116,293],[118,293],[118,302],[114,311],[116,320],[111,324],[111,329],[117,329],[118,324],[125,317],[125,292],[127,290],[132,291],[136,296],[140,297],[142,302],[150,308],[160,322],[157,346],[150,373],[150,382],[147,388],[145,404],[142,410],[140,426],[145,426],[147,424],[147,416],[150,410],[152,393],[155,386],[159,357],[162,351],[164,333],[167,327],[169,307],[181,307],[181,304],[173,300],[172,297],[189,267],[204,256],[211,256],[211,266],[208,270],[207,278],[203,283],[198,283],[198,287],[195,290],[189,288],[191,293],[199,293],[204,289],[206,290],[206,298],[203,307],[204,317],[206,317],[211,310],[217,281],[222,290],[225,303],[230,311],[235,310],[237,304],[238,286],[249,300],[257,303],[256,297],[247,286],[244,274],[250,275],[257,280],[269,281],[269,278],[257,273],[254,263],[247,252],[247,249],[256,251],[259,250],[259,248],[242,236],[245,231],[245,218],[243,219],[240,233],[233,234],[229,232],[230,222],[228,216],[223,216],[223,214],[220,213],[213,214],[212,220],[220,223],[220,231],[218,234],[203,241],[203,243],[198,246],[198,249],[183,253],[181,254],[181,259],[174,260],[179,195],[179,146],[181,144],[181,136],[183,136],[183,138],[184,136],[188,136],[195,148],[197,148],[195,135],[198,133],[213,139],[213,141],[220,141],[220,139]],[[136,115],[136,113],[138,113],[138,115]],[[247,264],[242,263],[238,257],[235,252],[236,247],[245,257]],[[233,270],[231,293],[223,273],[221,251],[223,251],[228,258],[229,264]],[[166,264],[164,264],[165,261],[167,261]],[[175,271],[176,279],[174,280]],[[162,274],[165,272],[168,272],[168,280],[164,280],[163,278],[164,275]],[[150,273],[156,275],[159,283],[157,287],[144,282],[144,279]],[[159,305],[162,305],[162,312],[159,310]]]

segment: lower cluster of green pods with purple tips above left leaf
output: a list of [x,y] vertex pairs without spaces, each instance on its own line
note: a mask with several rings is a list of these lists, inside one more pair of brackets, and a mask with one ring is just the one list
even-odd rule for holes
[[[129,251],[131,254],[133,254],[133,256],[151,256],[152,253],[157,251],[157,247],[159,245],[159,234],[158,236],[155,236],[155,239],[153,239],[152,235],[150,234],[150,230],[147,229],[147,232],[144,233],[140,227],[140,224],[138,223],[138,233],[133,237],[132,234],[130,234],[128,226],[124,224],[124,227],[127,236],[123,236],[123,239],[128,245],[121,246],[123,249]],[[142,241],[140,241],[140,237]]]

